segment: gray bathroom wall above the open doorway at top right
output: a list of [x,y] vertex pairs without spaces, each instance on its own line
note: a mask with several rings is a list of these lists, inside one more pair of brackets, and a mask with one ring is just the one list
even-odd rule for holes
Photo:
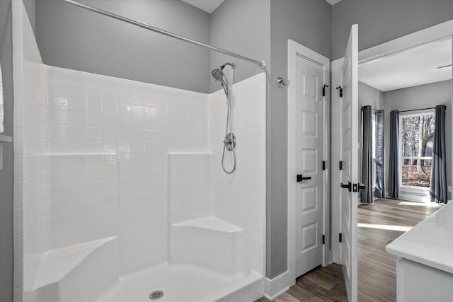
[[352,24],[365,50],[452,18],[449,0],[342,0],[332,11],[332,59],[343,57]]

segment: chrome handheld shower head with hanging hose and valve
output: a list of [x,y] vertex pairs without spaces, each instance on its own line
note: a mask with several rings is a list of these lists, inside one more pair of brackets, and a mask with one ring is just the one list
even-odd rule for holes
[[[222,169],[225,173],[231,174],[236,170],[236,136],[233,133],[233,126],[232,126],[232,104],[231,104],[231,86],[229,86],[228,78],[224,73],[225,66],[231,66],[233,69],[233,83],[234,83],[234,69],[236,68],[236,63],[225,63],[217,69],[212,69],[211,74],[214,77],[215,81],[219,81],[222,83],[222,87],[224,88],[224,93],[226,95],[226,126],[225,126],[225,139],[224,139],[224,151],[222,152]],[[225,150],[231,151],[233,155],[233,167],[229,170],[226,168],[225,163]]]

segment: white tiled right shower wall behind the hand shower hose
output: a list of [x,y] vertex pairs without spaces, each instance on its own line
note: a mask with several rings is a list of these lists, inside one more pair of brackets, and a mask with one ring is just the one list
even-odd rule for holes
[[[226,98],[223,90],[210,95],[209,145],[213,153],[215,216],[243,229],[248,265],[265,274],[265,74],[234,84],[232,91],[237,166],[230,175],[224,173],[220,164]],[[231,153],[227,154],[226,163],[231,164]]]

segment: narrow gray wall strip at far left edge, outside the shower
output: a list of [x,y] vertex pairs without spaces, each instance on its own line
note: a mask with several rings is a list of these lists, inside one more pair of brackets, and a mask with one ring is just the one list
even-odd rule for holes
[[[3,77],[5,131],[13,135],[13,43],[11,0],[0,1],[0,63]],[[0,302],[13,301],[13,146],[3,148],[0,170]]]

